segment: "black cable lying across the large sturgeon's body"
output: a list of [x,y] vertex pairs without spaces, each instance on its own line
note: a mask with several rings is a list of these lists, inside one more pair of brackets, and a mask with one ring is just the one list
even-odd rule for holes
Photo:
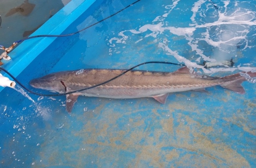
[[36,93],[36,92],[33,92],[31,90],[29,90],[28,88],[26,88],[21,82],[19,82],[10,72],[8,72],[7,70],[5,70],[4,68],[0,67],[0,70],[4,71],[5,73],[7,73],[9,76],[11,76],[11,78],[13,78],[13,80],[15,82],[17,82],[22,88],[24,88],[25,90],[27,90],[29,93],[31,94],[35,94],[35,95],[38,95],[38,96],[63,96],[63,95],[67,95],[67,94],[72,94],[72,93],[77,93],[77,92],[81,92],[81,91],[84,91],[84,90],[88,90],[88,89],[91,89],[91,88],[95,88],[95,87],[98,87],[100,85],[104,85],[105,83],[108,83],[116,78],[118,78],[119,76],[122,76],[124,75],[125,73],[131,71],[132,69],[134,68],[137,68],[139,66],[142,66],[142,65],[145,65],[145,64],[148,64],[148,63],[164,63],[164,64],[172,64],[172,65],[179,65],[179,66],[185,66],[185,64],[178,64],[178,63],[172,63],[172,62],[165,62],[165,61],[149,61],[149,62],[143,62],[143,63],[140,63],[128,70],[126,70],[125,72],[123,72],[122,74],[119,74],[109,80],[106,80],[105,82],[102,82],[98,85],[94,85],[94,86],[91,86],[91,87],[88,87],[88,88],[84,88],[84,89],[80,89],[80,90],[76,90],[76,91],[72,91],[72,92],[67,92],[67,93],[59,93],[59,94],[40,94],[40,93]]

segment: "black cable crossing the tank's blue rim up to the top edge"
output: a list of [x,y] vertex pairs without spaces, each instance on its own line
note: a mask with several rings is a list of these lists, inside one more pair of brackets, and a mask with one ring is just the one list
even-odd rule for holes
[[106,19],[108,19],[108,18],[110,18],[110,17],[112,17],[112,16],[114,16],[114,15],[120,13],[120,12],[122,12],[122,11],[124,11],[126,8],[128,8],[128,7],[132,6],[132,5],[134,5],[135,3],[139,2],[139,1],[140,1],[140,0],[137,0],[137,1],[133,2],[133,3],[131,3],[130,5],[128,5],[128,6],[126,6],[125,8],[123,8],[122,10],[120,10],[120,11],[118,11],[118,12],[116,12],[116,13],[114,13],[114,14],[112,14],[112,15],[110,15],[110,16],[108,16],[108,17],[106,17],[106,18],[104,18],[104,19],[102,19],[102,20],[100,20],[100,21],[98,21],[98,22],[96,22],[96,23],[94,23],[94,24],[91,24],[91,25],[85,27],[84,29],[79,30],[78,32],[70,33],[70,34],[64,34],[64,35],[38,35],[38,36],[32,36],[32,37],[27,37],[27,38],[18,40],[18,41],[16,41],[15,43],[19,43],[19,42],[22,42],[22,41],[24,41],[24,40],[28,40],[28,39],[31,39],[31,38],[37,38],[37,37],[66,37],[66,36],[72,36],[72,35],[74,35],[74,34],[77,34],[77,33],[79,33],[79,32],[82,32],[82,31],[84,31],[84,30],[86,30],[86,29],[88,29],[88,28],[90,28],[90,27],[92,27],[92,26],[94,26],[94,25],[96,25],[96,24],[98,24],[98,23],[100,23],[100,22],[102,22],[102,21],[104,21],[104,20],[106,20]]

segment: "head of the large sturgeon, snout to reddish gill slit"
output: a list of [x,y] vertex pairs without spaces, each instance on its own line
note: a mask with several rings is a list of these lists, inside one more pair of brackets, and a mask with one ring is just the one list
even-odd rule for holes
[[56,73],[43,76],[41,78],[32,79],[29,85],[33,88],[56,91],[59,93],[65,92],[65,85],[62,80],[57,77]]

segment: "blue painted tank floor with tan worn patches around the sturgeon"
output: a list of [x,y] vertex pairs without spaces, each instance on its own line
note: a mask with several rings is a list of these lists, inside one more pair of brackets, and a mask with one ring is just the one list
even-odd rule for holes
[[[107,17],[131,1],[102,1],[64,33]],[[200,70],[225,76],[256,67],[255,1],[174,0],[140,2],[75,37],[56,39],[18,78],[82,68],[128,69],[145,61],[181,62],[233,58],[234,67]],[[253,4],[253,5],[252,5]],[[150,64],[143,70],[175,71]],[[33,72],[33,73],[31,73]],[[80,96],[72,113],[65,96],[35,104],[5,88],[0,102],[3,167],[255,167],[255,83],[240,95],[216,86],[209,93],[153,98]],[[36,90],[39,93],[46,93]]]

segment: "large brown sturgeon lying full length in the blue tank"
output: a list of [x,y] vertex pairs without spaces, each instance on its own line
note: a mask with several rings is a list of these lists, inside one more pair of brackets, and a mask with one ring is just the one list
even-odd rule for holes
[[[41,78],[32,79],[33,88],[68,93],[92,87],[122,74],[122,69],[80,69],[75,71],[62,71],[48,74]],[[77,97],[94,96],[103,98],[141,98],[153,97],[161,104],[165,104],[169,93],[184,91],[207,92],[205,88],[220,85],[225,89],[239,94],[245,94],[241,83],[246,80],[247,74],[256,76],[256,72],[240,72],[224,77],[211,77],[193,71],[190,73],[186,66],[175,72],[156,72],[131,70],[111,80],[108,83],[66,95],[66,110],[70,113]]]

